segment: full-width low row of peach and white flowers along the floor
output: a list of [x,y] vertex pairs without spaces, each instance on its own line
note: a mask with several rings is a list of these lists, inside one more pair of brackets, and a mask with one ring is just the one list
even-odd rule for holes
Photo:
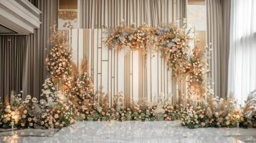
[[[57,92],[62,97],[59,92]],[[185,127],[243,127],[247,122],[244,112],[235,107],[233,99],[210,97],[207,102],[187,99],[186,104],[173,105],[159,97],[154,102],[143,101],[142,104],[132,102],[124,106],[123,94],[115,95],[115,102],[110,107],[108,93],[98,93],[98,100],[74,104],[72,99],[60,98],[57,102],[46,102],[27,96],[24,101],[19,94],[11,95],[11,101],[0,109],[0,127],[9,128],[11,124],[22,128],[60,128],[82,121],[173,121],[178,119]],[[68,97],[68,96],[65,96]],[[84,101],[87,101],[85,99]],[[2,106],[2,105],[1,105]],[[255,112],[250,121],[255,127]],[[240,123],[240,124],[238,124]]]

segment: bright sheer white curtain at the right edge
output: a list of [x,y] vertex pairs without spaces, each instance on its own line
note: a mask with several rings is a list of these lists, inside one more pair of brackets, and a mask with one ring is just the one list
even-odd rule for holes
[[256,1],[233,0],[230,24],[228,91],[243,104],[256,89]]

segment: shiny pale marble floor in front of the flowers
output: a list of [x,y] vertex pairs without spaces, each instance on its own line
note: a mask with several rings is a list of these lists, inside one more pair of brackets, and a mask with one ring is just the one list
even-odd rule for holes
[[188,129],[179,122],[76,122],[60,131],[0,132],[0,142],[256,142],[256,129]]

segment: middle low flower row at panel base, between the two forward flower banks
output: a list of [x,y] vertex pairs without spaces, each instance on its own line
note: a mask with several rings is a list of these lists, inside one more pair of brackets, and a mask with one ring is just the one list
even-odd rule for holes
[[81,106],[80,117],[78,119],[85,121],[159,121],[174,120],[176,118],[175,107],[171,104],[149,105],[133,104],[125,107],[123,104],[123,94],[115,95],[113,107],[108,104],[108,94],[98,93],[98,101],[87,102]]

